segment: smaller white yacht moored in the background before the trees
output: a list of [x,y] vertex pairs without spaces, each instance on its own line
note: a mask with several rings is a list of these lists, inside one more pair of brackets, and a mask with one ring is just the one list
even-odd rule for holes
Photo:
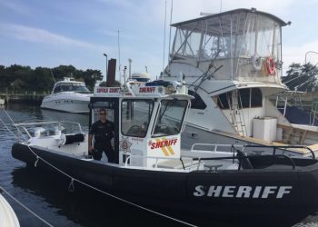
[[41,108],[76,114],[89,113],[89,99],[92,93],[84,82],[65,77],[55,84],[52,94],[45,96]]

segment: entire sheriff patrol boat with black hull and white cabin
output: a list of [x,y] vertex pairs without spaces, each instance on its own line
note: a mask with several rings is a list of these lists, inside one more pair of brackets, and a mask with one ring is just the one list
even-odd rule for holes
[[[211,226],[220,219],[291,225],[317,210],[314,153],[313,158],[289,157],[273,147],[273,154],[246,155],[247,145],[208,143],[181,149],[192,98],[181,82],[96,87],[90,123],[100,108],[106,109],[114,122],[118,163],[93,160],[80,124],[65,122],[15,124],[26,138],[13,145],[12,155],[31,166],[65,173],[70,189],[84,183],[192,226]],[[280,147],[287,148],[293,149]]]

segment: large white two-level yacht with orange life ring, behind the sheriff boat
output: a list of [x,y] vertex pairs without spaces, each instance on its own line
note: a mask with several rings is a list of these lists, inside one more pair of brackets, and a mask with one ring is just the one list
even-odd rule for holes
[[254,8],[172,25],[174,42],[162,79],[183,74],[194,96],[185,146],[298,144],[318,152],[318,131],[290,123],[268,98],[287,90],[281,81],[285,25],[290,22]]

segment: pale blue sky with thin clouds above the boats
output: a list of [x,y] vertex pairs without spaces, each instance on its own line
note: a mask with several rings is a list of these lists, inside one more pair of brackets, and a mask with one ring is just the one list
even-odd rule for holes
[[0,0],[0,64],[72,64],[105,74],[107,54],[117,59],[117,79],[129,58],[132,73],[147,67],[155,78],[167,64],[170,20],[252,7],[292,22],[283,27],[284,71],[305,58],[317,63],[317,0]]

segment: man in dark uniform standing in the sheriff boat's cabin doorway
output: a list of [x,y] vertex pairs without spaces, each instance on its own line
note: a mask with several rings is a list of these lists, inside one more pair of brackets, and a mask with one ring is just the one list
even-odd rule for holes
[[[88,152],[95,160],[101,160],[103,152],[107,155],[109,163],[117,163],[112,138],[114,138],[114,123],[107,120],[106,110],[100,109],[98,112],[100,120],[93,123],[88,134]],[[94,148],[92,139],[94,135]]]

